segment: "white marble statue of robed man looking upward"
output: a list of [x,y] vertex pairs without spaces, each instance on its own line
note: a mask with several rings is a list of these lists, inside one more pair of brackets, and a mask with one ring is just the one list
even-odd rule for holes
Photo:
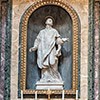
[[34,47],[29,51],[37,50],[37,64],[42,73],[40,82],[61,82],[58,57],[61,55],[61,45],[68,39],[61,38],[58,31],[52,27],[52,18],[47,18],[45,24],[46,28],[39,32]]

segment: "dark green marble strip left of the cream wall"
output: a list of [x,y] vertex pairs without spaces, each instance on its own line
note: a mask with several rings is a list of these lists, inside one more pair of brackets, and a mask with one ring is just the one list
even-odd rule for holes
[[7,0],[7,20],[5,38],[5,89],[4,100],[10,100],[10,67],[11,67],[11,23],[12,23],[12,0]]

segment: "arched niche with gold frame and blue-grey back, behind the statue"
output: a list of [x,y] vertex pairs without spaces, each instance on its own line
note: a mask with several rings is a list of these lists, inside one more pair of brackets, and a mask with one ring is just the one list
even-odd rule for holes
[[[59,31],[60,35],[71,40],[70,43],[64,44],[62,48],[63,56],[60,60],[63,59],[62,62],[65,61],[65,63],[64,66],[62,62],[59,63],[59,70],[65,81],[65,92],[67,94],[75,94],[78,89],[79,20],[75,10],[61,0],[39,0],[34,2],[22,16],[20,31],[21,89],[24,94],[35,93],[35,83],[40,77],[40,71],[36,64],[36,53],[30,54],[28,50],[33,46],[34,39],[39,31],[44,28],[44,19],[48,14],[54,17],[54,27]],[[43,94],[45,91],[38,92]],[[55,94],[61,93],[61,91],[57,90],[52,92]]]

